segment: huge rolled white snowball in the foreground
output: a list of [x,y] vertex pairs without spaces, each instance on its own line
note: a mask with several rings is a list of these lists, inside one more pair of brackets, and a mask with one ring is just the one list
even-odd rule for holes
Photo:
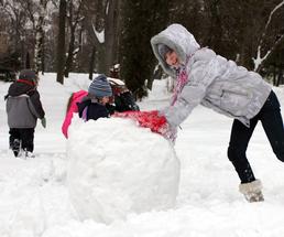
[[179,162],[171,143],[121,118],[73,120],[67,181],[81,219],[111,223],[175,205]]

